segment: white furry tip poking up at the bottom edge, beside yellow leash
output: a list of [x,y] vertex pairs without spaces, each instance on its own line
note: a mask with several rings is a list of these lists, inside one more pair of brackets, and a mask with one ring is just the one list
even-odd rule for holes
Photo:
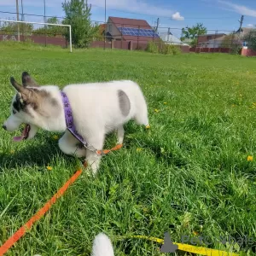
[[108,236],[100,233],[95,237],[91,256],[114,256],[113,246]]

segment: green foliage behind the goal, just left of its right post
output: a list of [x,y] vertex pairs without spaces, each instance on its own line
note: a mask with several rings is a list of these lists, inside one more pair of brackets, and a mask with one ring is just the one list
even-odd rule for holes
[[[46,20],[46,23],[51,23],[51,24],[61,24],[61,21],[58,20],[56,17],[51,17],[48,20]],[[67,32],[67,27],[64,26],[43,26],[38,29],[34,30],[34,34],[38,35],[48,35],[52,37],[56,36],[63,36]]]

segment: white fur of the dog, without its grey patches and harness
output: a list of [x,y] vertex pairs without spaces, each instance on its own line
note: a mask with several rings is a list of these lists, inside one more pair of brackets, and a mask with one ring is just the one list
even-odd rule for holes
[[[96,173],[100,156],[88,148],[78,148],[79,141],[66,130],[64,108],[61,91],[57,86],[39,87],[47,90],[55,98],[61,108],[53,108],[49,99],[44,100],[44,116],[33,111],[32,116],[20,112],[11,114],[4,123],[8,131],[15,131],[21,123],[32,125],[28,138],[35,136],[38,128],[46,131],[65,131],[59,140],[59,147],[65,154],[86,157],[92,171]],[[118,90],[123,90],[128,96],[131,109],[124,116],[119,108]],[[74,125],[79,134],[97,150],[102,150],[106,134],[117,131],[118,143],[123,143],[126,122],[134,119],[138,125],[148,125],[148,108],[143,92],[138,84],[132,81],[113,81],[108,83],[69,84],[63,89],[73,110]]]

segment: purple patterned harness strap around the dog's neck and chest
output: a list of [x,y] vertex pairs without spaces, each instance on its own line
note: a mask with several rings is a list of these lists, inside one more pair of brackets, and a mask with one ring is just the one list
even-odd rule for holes
[[68,101],[67,95],[65,92],[61,91],[62,102],[64,104],[64,112],[67,130],[73,134],[73,137],[76,137],[80,143],[83,143],[85,148],[89,148],[89,144],[84,140],[83,137],[79,135],[79,132],[76,130],[75,125],[73,124],[73,114],[70,103]]

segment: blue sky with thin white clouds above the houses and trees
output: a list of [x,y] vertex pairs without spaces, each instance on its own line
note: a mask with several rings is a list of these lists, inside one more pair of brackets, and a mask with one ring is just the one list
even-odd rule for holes
[[[45,0],[46,15],[64,16],[61,3],[65,0]],[[68,1],[68,0],[67,0]],[[32,15],[44,15],[44,0],[22,0],[23,12]],[[16,0],[0,0],[1,19],[16,19]],[[20,13],[21,13],[21,0]],[[91,20],[105,20],[105,0],[88,0],[91,3]],[[255,0],[106,0],[108,16],[147,20],[155,26],[160,19],[160,32],[167,32],[168,27],[174,35],[180,37],[181,29],[202,23],[208,33],[229,33],[240,26],[238,20],[244,15],[242,26],[256,25]],[[27,21],[44,22],[43,17],[26,15]]]

